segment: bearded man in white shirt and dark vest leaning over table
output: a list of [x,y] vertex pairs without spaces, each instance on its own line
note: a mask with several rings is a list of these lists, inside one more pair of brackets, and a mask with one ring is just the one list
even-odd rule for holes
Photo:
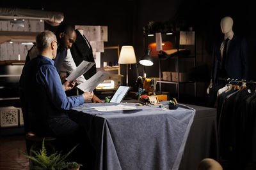
[[[77,38],[76,31],[71,25],[60,25],[55,32],[57,41],[58,41],[58,50],[56,54],[56,58],[54,59],[54,66],[56,67],[56,70],[58,73],[61,73],[61,66],[65,67],[67,69],[67,72],[70,74],[76,69],[76,64],[72,58],[72,55],[70,53],[70,48],[74,44]],[[26,62],[28,60],[31,60],[36,57],[37,50],[35,46],[33,46],[29,51],[26,58]],[[84,76],[80,76],[77,78],[77,83],[81,84],[84,81]],[[102,101],[93,94],[92,97],[93,103],[102,103]]]

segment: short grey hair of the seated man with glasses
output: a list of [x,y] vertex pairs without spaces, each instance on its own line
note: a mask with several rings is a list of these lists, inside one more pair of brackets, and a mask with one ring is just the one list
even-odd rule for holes
[[52,41],[56,41],[56,36],[53,32],[48,30],[40,32],[36,36],[36,48],[39,52],[42,52],[51,46]]

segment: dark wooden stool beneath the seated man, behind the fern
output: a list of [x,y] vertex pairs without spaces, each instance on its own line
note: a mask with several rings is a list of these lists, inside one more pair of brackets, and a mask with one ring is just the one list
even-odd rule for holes
[[[56,141],[56,138],[36,136],[35,133],[28,132],[26,134],[26,145],[29,155],[33,155],[32,150],[39,150],[39,148],[42,148],[43,139],[45,148],[47,148],[47,152],[55,153],[55,146],[53,141]],[[29,169],[33,169],[33,162],[31,159],[29,159]]]

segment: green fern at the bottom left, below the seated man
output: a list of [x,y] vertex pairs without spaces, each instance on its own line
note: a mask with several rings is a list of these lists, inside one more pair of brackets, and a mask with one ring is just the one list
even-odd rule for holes
[[74,146],[72,150],[70,150],[67,154],[61,156],[61,152],[55,152],[51,155],[47,156],[47,152],[44,145],[44,139],[42,143],[42,150],[40,149],[40,152],[32,150],[31,152],[33,155],[28,155],[25,152],[25,157],[28,157],[28,159],[31,159],[33,161],[33,169],[36,170],[59,170],[59,169],[65,169],[65,159],[68,157],[68,155],[73,152],[73,150],[77,147]]

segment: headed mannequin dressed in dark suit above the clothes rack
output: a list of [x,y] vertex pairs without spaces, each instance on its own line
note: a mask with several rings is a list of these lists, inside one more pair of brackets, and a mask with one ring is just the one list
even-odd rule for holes
[[233,24],[231,17],[221,18],[220,27],[223,38],[214,45],[211,82],[207,88],[207,94],[210,94],[211,90],[215,93],[217,88],[220,89],[225,86],[227,78],[238,80],[246,80],[248,78],[247,43],[245,38],[234,34],[232,30]]

